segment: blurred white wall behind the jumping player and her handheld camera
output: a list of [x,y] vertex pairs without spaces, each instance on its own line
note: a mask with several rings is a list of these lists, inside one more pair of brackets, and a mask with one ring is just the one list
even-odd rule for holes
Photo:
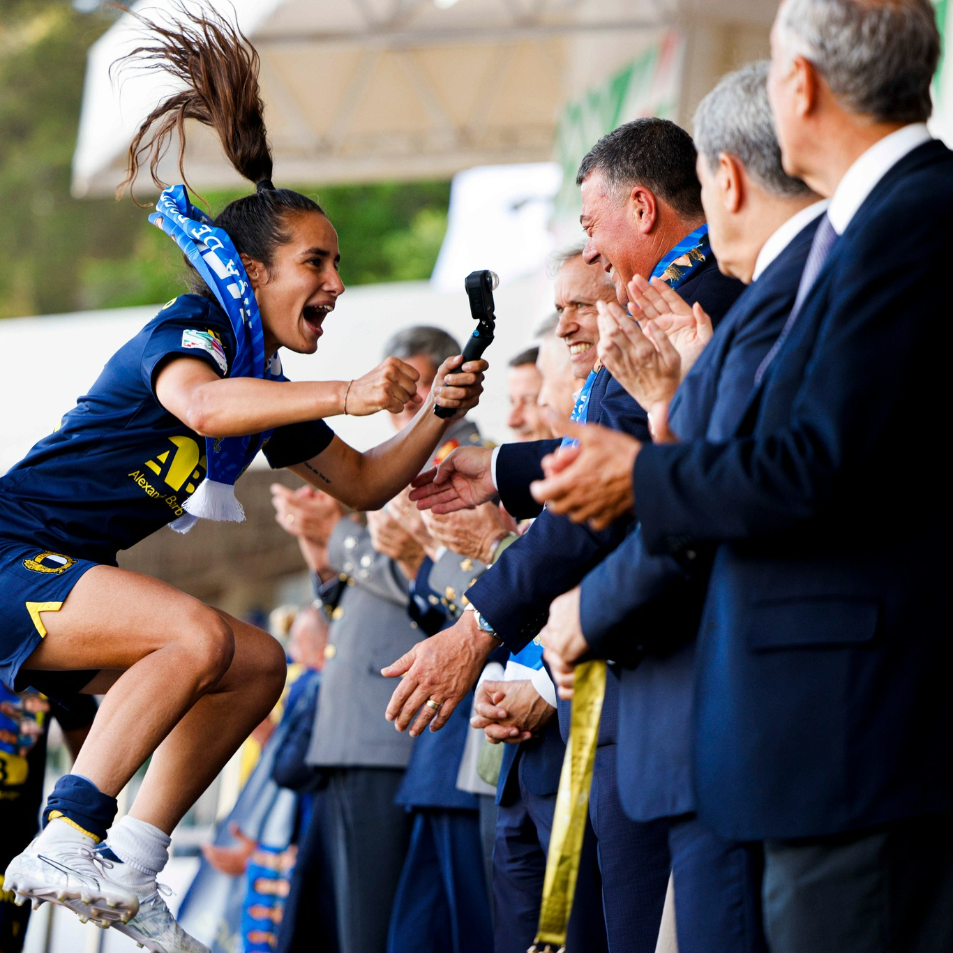
[[[485,262],[493,267],[493,262]],[[348,380],[371,370],[388,336],[412,324],[435,324],[461,342],[473,328],[464,274],[459,291],[436,293],[426,282],[352,288],[327,320],[314,355],[282,355],[293,380]],[[497,338],[486,356],[491,362],[486,393],[474,417],[487,436],[507,436],[506,364],[526,346],[540,317],[552,310],[545,278],[504,283],[496,293]],[[57,314],[0,321],[0,473],[46,436],[84,394],[106,360],[148,321],[156,308]],[[389,415],[335,417],[344,439],[361,449],[391,436]]]

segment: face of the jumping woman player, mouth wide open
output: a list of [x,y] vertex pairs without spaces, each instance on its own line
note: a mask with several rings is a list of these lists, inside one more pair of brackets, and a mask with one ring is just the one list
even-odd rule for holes
[[344,292],[337,274],[337,233],[317,212],[285,216],[289,241],[274,250],[271,268],[242,256],[265,332],[265,353],[278,348],[314,354],[324,319]]

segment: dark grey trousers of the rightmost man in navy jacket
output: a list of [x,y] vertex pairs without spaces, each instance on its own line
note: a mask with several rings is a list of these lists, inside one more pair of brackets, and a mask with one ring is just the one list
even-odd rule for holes
[[953,950],[953,815],[764,845],[771,953]]

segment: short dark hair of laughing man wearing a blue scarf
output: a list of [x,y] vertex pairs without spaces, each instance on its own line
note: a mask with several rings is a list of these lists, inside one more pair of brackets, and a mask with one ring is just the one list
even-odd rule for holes
[[[704,215],[692,137],[668,119],[647,116],[603,135],[586,153],[576,184],[599,170],[610,193],[642,185],[685,218]],[[621,197],[621,196],[619,196]]]

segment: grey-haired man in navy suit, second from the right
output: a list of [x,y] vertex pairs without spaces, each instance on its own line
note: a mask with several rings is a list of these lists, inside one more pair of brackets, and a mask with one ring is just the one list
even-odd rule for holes
[[[682,439],[719,439],[734,430],[755,372],[794,305],[826,204],[781,169],[766,77],[766,63],[730,74],[695,117],[712,248],[723,272],[752,287],[676,392],[669,418]],[[639,334],[621,314],[605,314],[601,324],[610,340],[627,341],[627,330]],[[606,365],[655,416],[654,403],[665,395],[658,385],[652,393],[643,378],[658,364],[658,352],[649,346],[652,363],[631,378],[619,352],[602,341]],[[635,820],[668,819],[681,953],[744,953],[764,949],[760,850],[725,841],[698,821],[690,777],[695,636],[705,581],[704,569],[691,561],[649,556],[634,523],[578,589],[553,603],[542,639],[549,658],[556,656],[558,675],[565,661],[583,656],[638,666],[618,673],[622,806]]]

